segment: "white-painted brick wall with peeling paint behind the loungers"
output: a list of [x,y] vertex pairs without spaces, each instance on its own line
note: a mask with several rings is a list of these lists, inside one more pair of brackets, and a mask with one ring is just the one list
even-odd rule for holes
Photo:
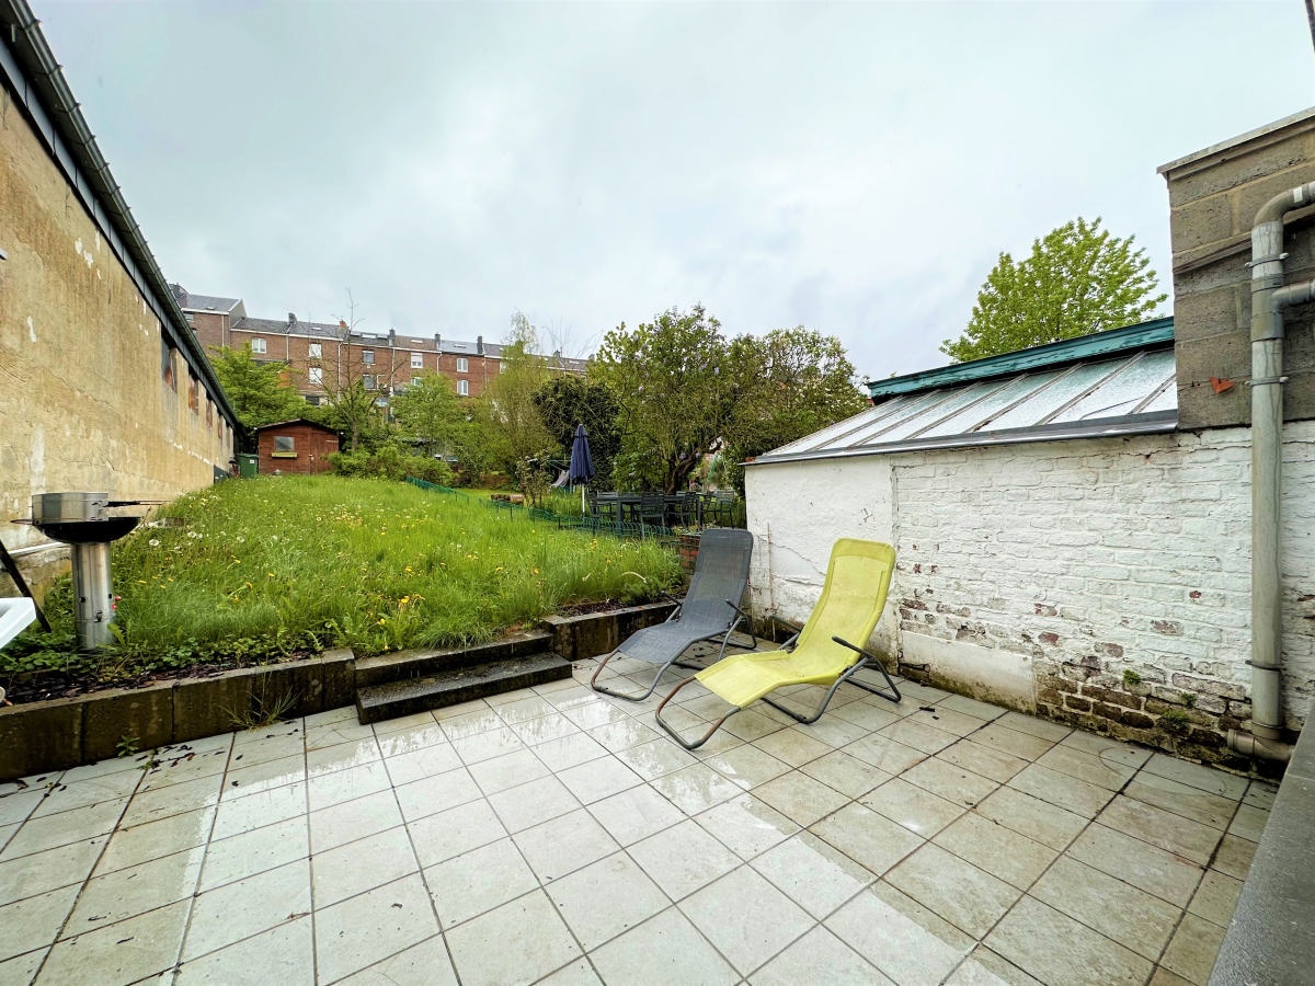
[[[751,467],[755,611],[890,542],[902,669],[1206,760],[1249,719],[1249,430]],[[1315,697],[1315,423],[1285,438],[1285,705]],[[920,665],[920,667],[915,667]]]

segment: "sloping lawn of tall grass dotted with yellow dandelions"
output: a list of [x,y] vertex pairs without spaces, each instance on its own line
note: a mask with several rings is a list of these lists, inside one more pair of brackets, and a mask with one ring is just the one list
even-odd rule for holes
[[181,497],[114,546],[113,573],[121,646],[135,653],[306,634],[360,653],[462,646],[569,602],[654,598],[681,578],[651,542],[334,476]]

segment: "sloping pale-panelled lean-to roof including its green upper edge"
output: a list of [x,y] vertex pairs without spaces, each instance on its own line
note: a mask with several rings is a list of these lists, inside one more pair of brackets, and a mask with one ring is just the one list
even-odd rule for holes
[[1173,319],[868,385],[873,406],[757,463],[1173,431]]

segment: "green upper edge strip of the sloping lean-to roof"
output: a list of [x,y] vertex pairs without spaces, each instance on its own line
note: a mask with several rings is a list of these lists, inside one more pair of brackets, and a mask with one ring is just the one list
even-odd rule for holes
[[867,384],[868,396],[893,397],[903,393],[931,390],[938,387],[967,384],[986,380],[993,376],[1022,373],[1028,369],[1053,367],[1061,363],[1074,363],[1091,356],[1109,356],[1115,352],[1141,350],[1173,342],[1173,316],[1155,318],[1140,325],[1127,325],[1122,329],[1109,329],[1103,333],[1080,335],[1076,339],[1061,339],[1044,346],[1032,346],[1018,352],[1002,352],[998,356],[974,359],[969,363],[956,363],[939,369],[924,369],[920,373],[894,376],[888,380],[873,380]]

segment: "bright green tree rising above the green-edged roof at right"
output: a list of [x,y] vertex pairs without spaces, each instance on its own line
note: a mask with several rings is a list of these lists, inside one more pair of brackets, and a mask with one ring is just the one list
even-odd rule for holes
[[1080,217],[1034,241],[1019,263],[1001,254],[968,329],[940,351],[961,363],[1143,321],[1168,296],[1155,293],[1159,279],[1134,239]]

